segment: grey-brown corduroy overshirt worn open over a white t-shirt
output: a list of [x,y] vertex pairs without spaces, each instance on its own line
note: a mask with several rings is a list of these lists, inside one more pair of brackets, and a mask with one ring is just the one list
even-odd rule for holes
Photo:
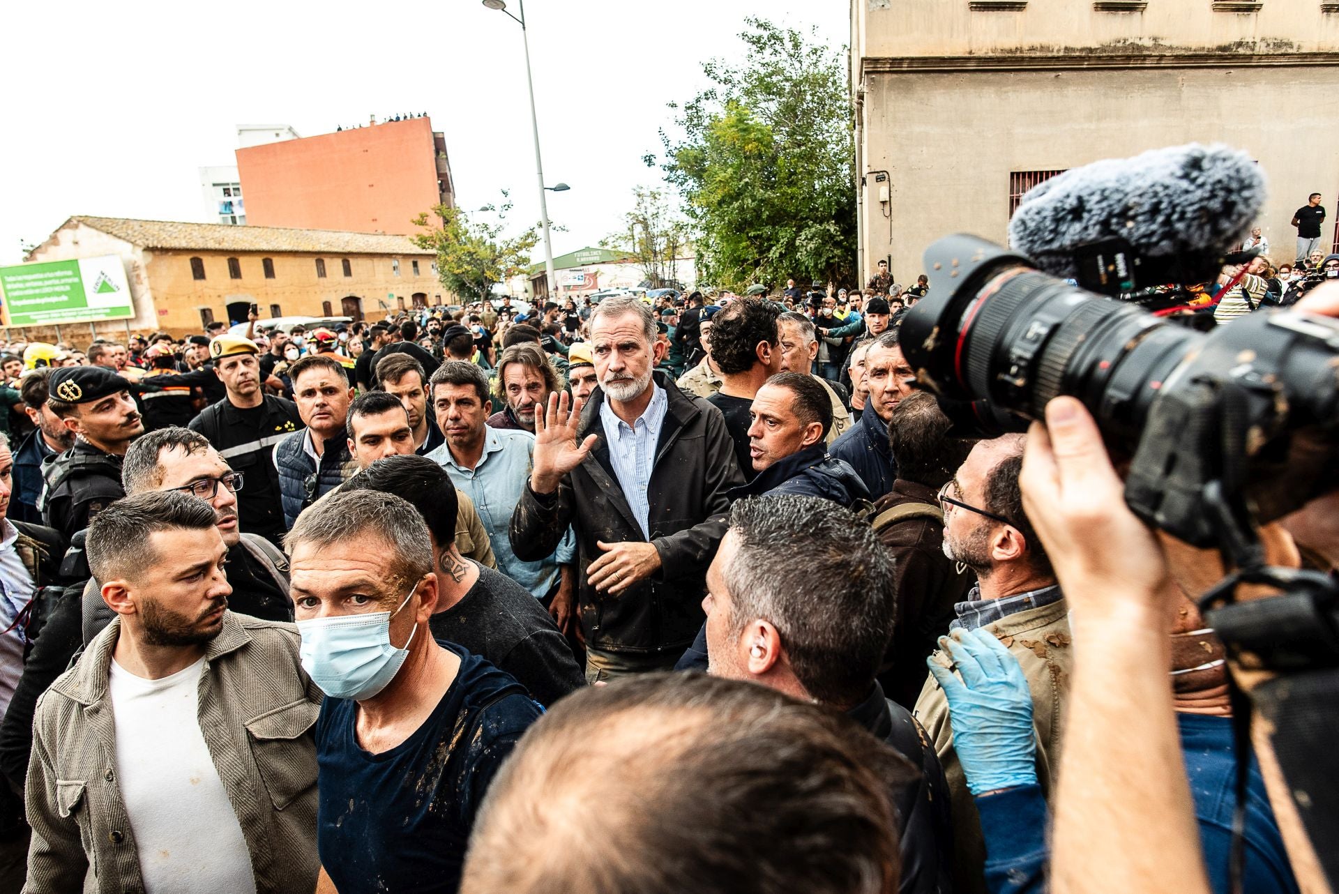
[[[25,796],[25,891],[145,890],[116,764],[108,668],[121,620],[37,701]],[[224,613],[205,646],[200,731],[250,851],[260,894],[316,886],[316,749],[321,691],[299,660],[297,629]],[[355,889],[348,889],[355,890]]]

